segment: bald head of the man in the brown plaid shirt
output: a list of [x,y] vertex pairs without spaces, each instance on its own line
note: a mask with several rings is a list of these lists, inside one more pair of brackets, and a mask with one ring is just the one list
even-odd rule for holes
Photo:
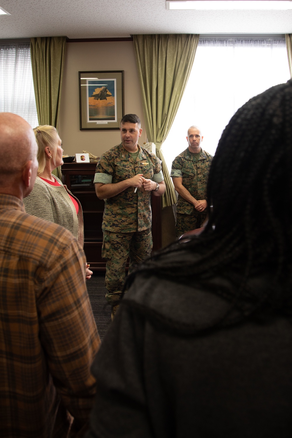
[[[7,193],[7,187],[18,190],[24,188],[22,184],[27,186],[23,172],[27,168],[25,173],[28,173],[35,165],[36,153],[35,134],[29,124],[16,114],[0,113],[0,193]],[[26,175],[29,184],[32,183],[32,173],[31,169],[30,176]]]

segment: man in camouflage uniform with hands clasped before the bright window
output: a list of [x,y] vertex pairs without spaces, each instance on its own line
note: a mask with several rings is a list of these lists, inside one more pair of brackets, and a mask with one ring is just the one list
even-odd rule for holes
[[[201,136],[201,131],[197,127],[191,128],[189,128],[190,132],[197,131]],[[183,187],[189,192],[191,198],[195,198],[194,201],[207,200],[207,180],[213,158],[211,154],[201,149],[200,143],[201,140],[197,141],[194,149],[198,150],[198,153],[192,153],[189,141],[189,147],[173,160],[170,173],[174,184],[175,178],[182,178]],[[191,201],[179,194],[176,204],[176,236],[180,237],[187,231],[200,228],[206,215],[205,209],[197,210]]]

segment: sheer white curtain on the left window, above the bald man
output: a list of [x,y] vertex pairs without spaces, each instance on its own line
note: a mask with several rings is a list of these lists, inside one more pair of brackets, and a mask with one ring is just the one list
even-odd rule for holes
[[32,79],[30,43],[0,43],[0,112],[18,114],[39,124]]

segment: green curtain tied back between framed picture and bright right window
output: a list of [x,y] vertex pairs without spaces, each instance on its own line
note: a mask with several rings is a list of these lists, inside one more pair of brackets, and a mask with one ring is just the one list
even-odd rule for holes
[[162,160],[166,191],[162,207],[176,203],[176,194],[161,145],[172,126],[193,66],[199,35],[134,35],[148,141]]

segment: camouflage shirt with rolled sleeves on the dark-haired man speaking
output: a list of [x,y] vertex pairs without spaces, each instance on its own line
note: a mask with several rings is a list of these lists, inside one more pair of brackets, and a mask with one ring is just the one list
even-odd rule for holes
[[[123,147],[116,145],[102,154],[96,166],[95,183],[119,183],[142,173],[143,177],[157,183],[164,178],[160,160],[151,152],[138,145],[139,154],[136,161]],[[131,233],[147,230],[151,227],[151,191],[143,187],[128,187],[121,193],[105,200],[102,230],[115,233]]]

